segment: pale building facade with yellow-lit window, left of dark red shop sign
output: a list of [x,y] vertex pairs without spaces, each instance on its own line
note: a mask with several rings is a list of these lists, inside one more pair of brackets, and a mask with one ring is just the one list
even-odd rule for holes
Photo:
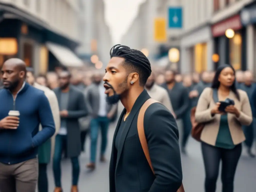
[[184,0],[184,27],[181,34],[182,73],[212,70],[211,57],[213,41],[210,19],[213,10],[212,1]]

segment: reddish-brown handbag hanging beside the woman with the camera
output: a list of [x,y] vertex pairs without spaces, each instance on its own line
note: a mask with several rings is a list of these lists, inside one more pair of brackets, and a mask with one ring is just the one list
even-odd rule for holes
[[201,137],[201,133],[205,127],[205,124],[196,122],[195,113],[196,113],[196,107],[193,107],[190,112],[190,121],[192,124],[191,136],[195,140],[201,141],[200,137]]

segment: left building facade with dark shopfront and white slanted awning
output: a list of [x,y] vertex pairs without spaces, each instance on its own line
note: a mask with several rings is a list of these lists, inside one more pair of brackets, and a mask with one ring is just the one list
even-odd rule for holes
[[81,67],[79,5],[72,0],[1,0],[0,59],[23,59],[36,73]]

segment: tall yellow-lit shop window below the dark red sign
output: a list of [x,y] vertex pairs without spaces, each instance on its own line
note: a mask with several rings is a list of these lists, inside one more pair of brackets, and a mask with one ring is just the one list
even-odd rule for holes
[[241,69],[242,61],[242,36],[239,33],[236,33],[233,38],[229,40],[229,57],[230,64],[236,70]]

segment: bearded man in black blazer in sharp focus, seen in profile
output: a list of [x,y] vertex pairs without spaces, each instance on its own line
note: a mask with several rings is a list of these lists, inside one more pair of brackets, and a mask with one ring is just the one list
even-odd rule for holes
[[104,87],[110,104],[121,100],[110,160],[110,192],[176,192],[182,184],[178,128],[170,111],[153,103],[144,116],[144,130],[155,174],[144,155],[137,132],[138,112],[150,99],[144,89],[151,74],[146,56],[115,45],[105,69]]

